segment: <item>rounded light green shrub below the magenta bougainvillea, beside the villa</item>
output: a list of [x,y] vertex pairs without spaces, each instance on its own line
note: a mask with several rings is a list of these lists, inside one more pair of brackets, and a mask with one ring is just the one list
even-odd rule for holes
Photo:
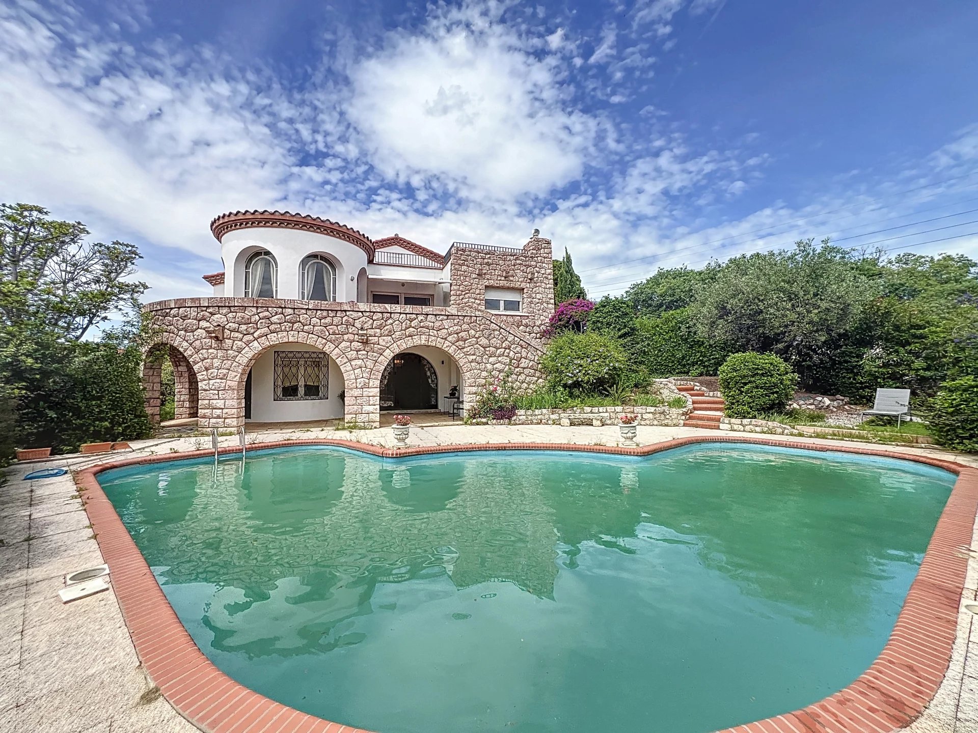
[[625,373],[621,344],[603,333],[563,333],[547,345],[540,362],[552,388],[571,394],[604,392]]

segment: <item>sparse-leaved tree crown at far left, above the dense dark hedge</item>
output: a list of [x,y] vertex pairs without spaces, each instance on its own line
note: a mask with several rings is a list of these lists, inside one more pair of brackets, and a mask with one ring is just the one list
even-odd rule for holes
[[83,224],[48,214],[40,206],[0,204],[2,323],[43,323],[77,341],[111,314],[138,310],[147,286],[126,280],[136,272],[136,247],[89,242]]

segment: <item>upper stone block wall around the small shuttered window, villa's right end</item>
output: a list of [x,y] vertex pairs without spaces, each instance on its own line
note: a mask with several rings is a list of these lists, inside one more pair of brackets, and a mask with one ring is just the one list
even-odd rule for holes
[[551,240],[533,237],[520,251],[452,248],[452,307],[484,311],[487,287],[523,292],[520,315],[490,314],[534,340],[554,313],[554,261]]

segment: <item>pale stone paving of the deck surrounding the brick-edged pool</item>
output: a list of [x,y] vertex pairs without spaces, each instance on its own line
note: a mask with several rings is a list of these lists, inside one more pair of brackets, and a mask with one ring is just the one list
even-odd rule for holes
[[[690,436],[758,438],[726,431],[640,426],[638,442],[647,446]],[[774,436],[766,436],[773,438]],[[247,436],[249,444],[296,440],[351,440],[382,449],[395,446],[389,428],[336,431],[333,428],[262,430]],[[778,441],[840,448],[851,442],[790,438]],[[237,445],[234,436],[220,445]],[[549,425],[429,425],[412,428],[409,447],[460,447],[480,444],[574,444],[613,447],[617,427]],[[0,488],[0,733],[174,733],[196,731],[163,698],[144,673],[115,591],[68,604],[58,591],[67,573],[101,565],[99,544],[70,474],[25,481],[39,468],[63,466],[72,471],[137,456],[206,450],[207,437],[177,437],[132,442],[132,451],[56,456],[48,461],[15,464]],[[876,447],[891,453],[925,455],[978,467],[978,456],[919,447]],[[978,595],[978,527],[969,518],[970,548],[961,601]],[[970,550],[970,551],[969,551]],[[963,556],[963,555],[962,555]],[[960,606],[960,604],[958,604]],[[943,661],[940,661],[943,664]],[[279,722],[269,730],[279,730]],[[288,726],[282,729],[289,729]],[[741,726],[737,730],[744,730]],[[772,727],[772,729],[776,729]],[[886,730],[875,727],[822,727],[814,730]],[[350,728],[331,728],[339,733]],[[978,733],[978,616],[960,610],[950,665],[930,704],[911,723],[912,733]],[[798,730],[797,733],[808,733]]]

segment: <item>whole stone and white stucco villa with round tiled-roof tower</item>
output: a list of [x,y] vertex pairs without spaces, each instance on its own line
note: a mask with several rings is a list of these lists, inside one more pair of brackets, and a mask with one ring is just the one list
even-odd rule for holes
[[554,281],[551,242],[536,231],[519,248],[457,241],[442,255],[289,212],[222,214],[210,230],[225,266],[203,276],[213,297],[145,307],[155,420],[166,356],[174,416],[208,428],[376,427],[381,410],[459,412],[507,369],[517,386],[540,380]]

